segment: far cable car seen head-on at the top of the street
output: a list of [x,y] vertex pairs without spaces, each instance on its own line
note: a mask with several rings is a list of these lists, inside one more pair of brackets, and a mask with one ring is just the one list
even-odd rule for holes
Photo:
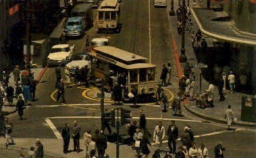
[[104,0],[97,9],[97,33],[120,31],[120,3],[116,0]]

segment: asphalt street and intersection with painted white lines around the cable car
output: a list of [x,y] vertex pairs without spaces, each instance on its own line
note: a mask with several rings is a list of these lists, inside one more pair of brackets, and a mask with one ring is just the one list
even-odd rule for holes
[[[171,42],[172,40],[177,40],[179,45],[181,41],[181,37],[177,35],[177,29],[175,28],[177,18],[176,16],[169,18],[166,10],[168,8],[154,8],[153,0],[149,2],[150,9],[148,10],[148,1],[122,1],[121,32],[119,34],[108,34],[110,36],[110,45],[151,58],[152,63],[157,65],[159,76],[162,64],[167,64],[167,61],[170,61],[174,70],[172,73],[172,85],[167,89],[175,95],[178,88],[178,78]],[[148,13],[150,13],[150,16],[148,16]],[[96,12],[94,12],[95,15]],[[89,34],[90,39],[106,36],[106,34],[96,34],[95,26],[87,31],[87,34]],[[85,39],[84,36],[79,40],[69,40],[68,43],[75,44],[75,50],[79,52],[84,50]],[[189,38],[186,38],[186,43],[186,46],[190,46]],[[67,81],[65,75],[63,76],[64,80]],[[42,81],[46,82],[40,83],[36,87],[36,98],[38,100],[25,110],[26,119],[18,120],[18,113],[8,116],[9,120],[13,122],[14,137],[57,139],[63,125],[65,123],[72,125],[74,120],[77,120],[81,125],[82,133],[86,130],[93,131],[100,128],[100,102],[89,100],[82,96],[82,93],[87,88],[66,88],[65,97],[67,103],[64,105],[55,102],[55,68],[48,68]],[[66,83],[66,85],[69,84],[71,83]],[[147,127],[153,134],[153,129],[161,116],[159,107],[151,104],[142,105],[140,108],[131,108],[129,105],[123,105],[123,107],[131,110],[133,120],[137,120],[135,118],[139,117],[138,110],[143,109],[148,118]],[[113,105],[108,103],[106,108],[111,109]],[[213,148],[217,140],[223,141],[223,145],[226,147],[226,157],[253,157],[253,155],[256,155],[254,150],[255,130],[241,130],[240,127],[236,127],[237,131],[227,132],[226,125],[206,122],[185,111],[184,117],[174,117],[172,114],[173,111],[170,109],[169,112],[162,113],[162,118],[166,119],[163,120],[166,130],[170,120],[176,120],[180,136],[183,128],[186,125],[191,125],[194,135],[198,136],[196,143],[199,146],[203,142],[209,150],[210,157],[213,157]],[[53,130],[54,128],[57,130]],[[125,133],[125,127],[122,127],[122,132]],[[167,147],[166,143],[164,147]],[[129,157],[133,156],[129,155]]]

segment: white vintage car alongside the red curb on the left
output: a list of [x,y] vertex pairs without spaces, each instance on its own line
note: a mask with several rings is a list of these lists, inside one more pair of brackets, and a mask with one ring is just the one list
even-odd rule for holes
[[48,66],[65,65],[72,59],[74,46],[69,44],[55,45],[47,57]]

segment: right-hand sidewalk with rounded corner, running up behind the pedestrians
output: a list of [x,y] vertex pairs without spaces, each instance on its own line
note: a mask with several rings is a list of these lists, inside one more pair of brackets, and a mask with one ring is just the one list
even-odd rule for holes
[[[192,3],[191,3],[192,4]],[[174,2],[174,9],[177,9],[177,2]],[[199,6],[198,6],[199,7]],[[204,12],[203,12],[204,13]],[[207,17],[208,14],[199,14],[198,16],[200,17]],[[172,20],[173,23],[177,22],[177,15],[176,16],[169,16],[169,20]],[[194,31],[198,30],[199,26],[195,21],[195,18],[191,15],[191,19],[193,21],[193,29]],[[175,24],[172,24],[172,27],[176,27]],[[172,32],[174,39],[176,40],[176,42],[178,43],[178,45],[181,43],[181,35],[179,35],[177,33],[177,31],[175,31],[175,29]],[[191,39],[189,38],[189,36],[186,33],[186,56],[188,58],[189,63],[191,63],[191,65],[198,65],[198,61],[196,60],[196,55],[194,53],[194,50],[192,49],[192,45],[191,45]],[[208,38],[208,43],[210,43],[210,41],[213,41],[212,38]],[[178,46],[180,48],[180,46]],[[178,50],[179,54],[180,54],[180,50]],[[176,61],[177,62],[177,61]],[[179,62],[177,62],[179,63]],[[183,72],[183,68],[184,68],[184,64],[181,63],[181,68],[182,68],[182,72]],[[199,73],[196,74],[196,87],[199,87]],[[204,78],[202,77],[202,91],[208,89],[209,83],[204,80]],[[199,88],[198,88],[199,89]],[[233,114],[235,117],[238,118],[238,122],[237,125],[245,125],[245,126],[250,126],[250,127],[255,127],[256,124],[252,123],[252,122],[243,122],[241,120],[241,109],[242,109],[242,96],[245,95],[243,93],[238,93],[235,92],[233,94],[227,93],[225,98],[226,100],[223,102],[219,101],[220,95],[218,95],[218,87],[214,87],[214,100],[213,100],[213,104],[214,107],[213,108],[204,108],[201,109],[199,107],[196,107],[196,101],[188,101],[187,104],[184,106],[186,108],[186,110],[188,110],[189,112],[191,112],[192,114],[201,117],[203,119],[206,120],[211,120],[214,122],[219,122],[222,124],[226,124],[226,120],[224,120],[224,115],[225,115],[225,110],[227,108],[228,105],[231,105],[231,108],[233,110]],[[250,96],[252,97],[252,96]]]

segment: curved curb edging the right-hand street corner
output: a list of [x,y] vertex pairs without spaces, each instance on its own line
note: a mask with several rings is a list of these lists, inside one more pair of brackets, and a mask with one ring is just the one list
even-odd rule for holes
[[[199,112],[195,112],[194,110],[191,110],[187,107],[186,104],[184,104],[184,107],[186,108],[186,110],[190,113],[192,113],[193,115],[196,115],[197,117],[200,117],[202,119],[205,119],[205,120],[211,120],[213,122],[216,122],[216,123],[220,123],[220,124],[226,124],[226,121],[225,120],[221,120],[221,119],[216,119],[214,117],[210,117],[209,115],[205,115],[203,113],[199,113]],[[243,122],[237,122],[236,125],[240,125],[240,126],[245,126],[245,127],[256,127],[256,124],[254,123],[243,123]]]

